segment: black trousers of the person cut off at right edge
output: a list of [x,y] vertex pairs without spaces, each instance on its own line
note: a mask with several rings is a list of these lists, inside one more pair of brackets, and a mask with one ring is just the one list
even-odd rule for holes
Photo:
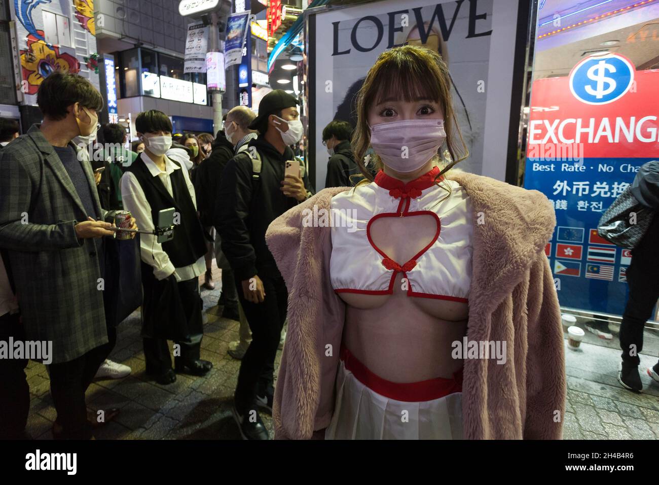
[[620,324],[620,348],[622,360],[635,366],[641,364],[638,354],[643,350],[643,327],[652,317],[652,307],[659,298],[658,244],[659,215],[656,215],[643,240],[631,251],[631,264],[627,268],[629,299]]

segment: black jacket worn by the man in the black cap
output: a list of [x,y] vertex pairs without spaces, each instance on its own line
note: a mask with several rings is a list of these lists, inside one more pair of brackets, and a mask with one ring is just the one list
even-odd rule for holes
[[[246,280],[256,274],[276,278],[280,273],[266,245],[266,230],[270,222],[298,203],[280,190],[285,161],[293,159],[293,150],[287,146],[281,154],[262,136],[248,145],[256,147],[261,156],[260,177],[252,178],[252,160],[247,153],[229,160],[219,183],[214,226],[236,278]],[[303,180],[307,191],[313,193],[308,171]]]

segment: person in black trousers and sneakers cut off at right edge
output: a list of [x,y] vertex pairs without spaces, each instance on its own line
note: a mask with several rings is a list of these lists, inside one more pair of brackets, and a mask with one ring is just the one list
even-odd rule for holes
[[[643,206],[652,209],[652,222],[643,239],[631,251],[627,268],[629,299],[620,324],[622,366],[618,381],[627,389],[641,391],[639,354],[643,350],[643,327],[652,317],[652,308],[659,298],[659,161],[647,162],[636,174],[631,193]],[[648,375],[659,383],[659,362],[647,369]]]

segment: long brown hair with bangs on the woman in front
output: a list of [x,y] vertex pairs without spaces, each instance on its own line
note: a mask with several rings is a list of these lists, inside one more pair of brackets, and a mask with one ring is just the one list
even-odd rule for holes
[[[364,183],[373,181],[372,172],[364,165],[364,154],[370,148],[368,108],[373,103],[379,104],[391,93],[398,93],[406,102],[417,98],[434,100],[442,108],[446,141],[445,148],[440,148],[444,150],[440,161],[443,161],[445,166],[438,178],[469,156],[453,112],[451,77],[442,57],[431,49],[420,46],[389,49],[378,56],[357,93],[357,127],[353,132],[351,146],[355,162],[366,178]],[[457,145],[458,141],[461,147]],[[371,154],[369,165],[379,170],[382,168],[382,160],[376,154]]]

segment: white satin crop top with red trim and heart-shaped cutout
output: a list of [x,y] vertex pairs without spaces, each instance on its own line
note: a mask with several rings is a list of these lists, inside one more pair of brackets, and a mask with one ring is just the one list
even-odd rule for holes
[[[382,170],[375,180],[331,199],[332,253],[329,273],[335,292],[392,294],[397,273],[409,282],[408,296],[467,303],[471,285],[471,200],[456,181],[444,179],[451,195],[434,183],[439,173],[407,184]],[[374,220],[428,214],[437,221],[434,239],[409,261],[393,261],[370,237]],[[397,235],[396,237],[404,237]]]

